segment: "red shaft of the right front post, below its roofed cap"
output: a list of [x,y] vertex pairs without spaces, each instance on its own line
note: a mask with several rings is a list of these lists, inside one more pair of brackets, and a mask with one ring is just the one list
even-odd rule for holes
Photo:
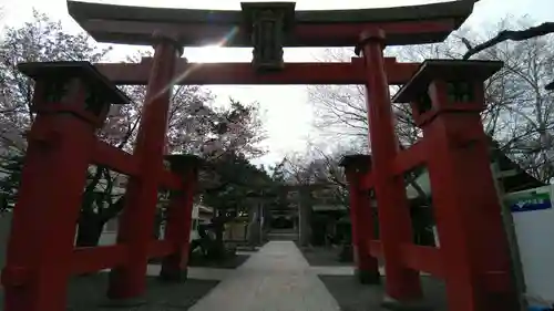
[[510,256],[481,116],[449,112],[445,83],[430,90],[433,104],[443,107],[423,133],[433,151],[428,167],[449,310],[517,310],[510,281],[500,291],[485,284],[491,271],[509,273]]

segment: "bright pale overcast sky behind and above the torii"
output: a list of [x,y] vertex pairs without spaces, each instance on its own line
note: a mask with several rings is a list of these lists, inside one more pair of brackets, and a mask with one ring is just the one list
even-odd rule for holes
[[[191,8],[191,9],[225,9],[239,10],[240,1],[235,0],[86,0],[127,6]],[[359,9],[377,7],[412,6],[444,0],[298,0],[297,10],[326,9]],[[245,1],[264,2],[264,1]],[[266,1],[267,2],[267,1]],[[61,20],[64,28],[71,32],[81,28],[68,14],[65,0],[0,0],[3,19],[1,27],[18,25],[32,18],[32,9],[47,13],[52,19]],[[514,19],[529,15],[535,22],[554,21],[554,0],[481,0],[475,4],[473,14],[462,27],[473,29],[499,22],[506,15]],[[133,54],[140,48],[114,45],[111,61],[121,61],[127,54]],[[144,48],[143,48],[144,49]],[[321,55],[320,49],[285,49],[285,61],[309,62]],[[217,46],[186,48],[184,56],[191,62],[249,62],[250,49],[222,49]],[[228,101],[232,96],[240,102],[258,102],[264,113],[264,124],[268,139],[264,145],[269,153],[255,159],[257,164],[271,164],[283,156],[301,152],[306,147],[307,137],[316,137],[312,129],[314,111],[308,103],[307,87],[299,86],[250,86],[250,85],[214,85],[209,90],[217,96],[218,103]]]

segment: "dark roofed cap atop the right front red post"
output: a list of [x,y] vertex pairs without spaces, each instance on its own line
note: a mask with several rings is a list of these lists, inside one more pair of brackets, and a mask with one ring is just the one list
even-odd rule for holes
[[410,103],[418,126],[445,111],[479,113],[485,108],[483,81],[502,65],[499,61],[424,61],[393,102]]

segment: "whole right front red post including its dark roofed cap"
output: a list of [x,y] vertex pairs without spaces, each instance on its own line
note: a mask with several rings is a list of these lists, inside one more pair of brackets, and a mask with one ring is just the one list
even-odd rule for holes
[[502,65],[425,61],[393,99],[423,129],[449,310],[520,310],[481,121],[483,82]]

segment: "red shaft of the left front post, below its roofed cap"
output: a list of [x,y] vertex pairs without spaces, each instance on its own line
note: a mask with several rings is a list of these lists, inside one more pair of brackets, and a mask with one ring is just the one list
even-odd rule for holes
[[3,310],[65,310],[75,222],[94,132],[93,124],[74,115],[37,116],[2,272]]

